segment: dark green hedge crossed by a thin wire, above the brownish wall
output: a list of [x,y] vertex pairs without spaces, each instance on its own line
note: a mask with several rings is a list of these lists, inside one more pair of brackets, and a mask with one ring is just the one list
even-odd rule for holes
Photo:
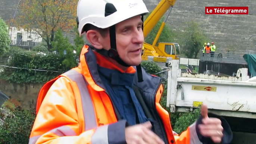
[[[4,68],[4,72],[1,72],[0,76],[2,79],[16,83],[45,83],[69,69],[69,67],[62,66],[64,60],[65,57],[61,57],[59,54],[46,54],[44,56],[37,54],[37,52],[17,49],[13,50],[6,65],[24,69]],[[46,71],[34,71],[32,69]]]

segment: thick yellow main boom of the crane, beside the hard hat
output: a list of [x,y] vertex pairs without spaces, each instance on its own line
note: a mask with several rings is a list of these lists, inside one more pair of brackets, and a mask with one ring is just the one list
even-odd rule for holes
[[165,12],[172,6],[174,6],[176,0],[161,0],[156,8],[152,11],[149,17],[144,22],[144,37],[152,31],[157,22],[162,18]]

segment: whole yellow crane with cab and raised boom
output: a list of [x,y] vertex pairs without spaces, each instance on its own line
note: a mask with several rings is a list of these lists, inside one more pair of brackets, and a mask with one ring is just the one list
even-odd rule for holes
[[[145,43],[143,44],[143,55],[142,59],[147,60],[148,56],[159,57],[158,61],[166,61],[166,57],[172,57],[172,59],[179,59],[180,56],[180,47],[178,43],[165,43],[160,42],[156,46],[157,40],[159,39],[165,23],[168,19],[168,16],[171,13],[172,7],[174,6],[176,0],[161,0],[156,8],[150,13],[149,17],[144,22],[144,37],[147,37],[150,31],[156,26],[157,22],[162,18],[162,16],[169,9],[165,21],[162,22],[159,31],[156,34],[156,37],[153,41],[153,44]],[[156,60],[157,61],[157,60]]]

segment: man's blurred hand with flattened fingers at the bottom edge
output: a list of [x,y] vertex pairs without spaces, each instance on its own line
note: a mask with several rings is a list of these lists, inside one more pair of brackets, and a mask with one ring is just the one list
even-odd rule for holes
[[125,128],[127,144],[165,144],[151,129],[150,122],[141,123]]

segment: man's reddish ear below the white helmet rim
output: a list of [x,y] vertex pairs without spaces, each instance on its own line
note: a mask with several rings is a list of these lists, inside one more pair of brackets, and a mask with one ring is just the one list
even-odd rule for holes
[[96,30],[89,30],[86,33],[87,40],[91,43],[91,45],[97,49],[102,49],[103,46],[99,41],[100,33]]

